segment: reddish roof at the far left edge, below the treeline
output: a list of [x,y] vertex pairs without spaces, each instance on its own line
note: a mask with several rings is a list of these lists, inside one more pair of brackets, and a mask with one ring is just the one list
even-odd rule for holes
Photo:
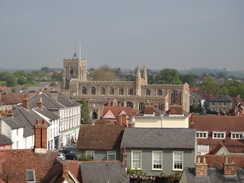
[[24,94],[7,94],[2,95],[0,98],[0,104],[13,105],[23,102]]

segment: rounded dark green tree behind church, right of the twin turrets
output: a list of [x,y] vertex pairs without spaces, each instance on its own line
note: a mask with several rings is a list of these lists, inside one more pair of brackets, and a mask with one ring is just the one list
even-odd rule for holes
[[155,77],[157,84],[181,84],[180,74],[175,69],[163,69]]

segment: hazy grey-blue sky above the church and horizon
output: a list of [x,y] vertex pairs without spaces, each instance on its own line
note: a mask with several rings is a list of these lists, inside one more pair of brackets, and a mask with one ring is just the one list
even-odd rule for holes
[[[81,45],[81,46],[80,46]],[[243,0],[0,1],[0,68],[244,70]]]

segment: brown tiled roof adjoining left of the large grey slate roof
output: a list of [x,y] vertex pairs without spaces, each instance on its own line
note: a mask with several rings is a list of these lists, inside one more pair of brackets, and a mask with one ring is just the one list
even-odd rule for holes
[[120,149],[124,127],[120,125],[81,125],[77,149]]

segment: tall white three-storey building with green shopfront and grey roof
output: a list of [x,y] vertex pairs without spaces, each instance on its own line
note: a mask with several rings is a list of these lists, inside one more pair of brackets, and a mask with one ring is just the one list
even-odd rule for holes
[[[38,100],[42,100],[42,106],[47,110],[59,116],[59,139],[55,137],[56,142],[59,141],[58,147],[62,148],[67,145],[74,144],[78,137],[80,127],[80,107],[81,104],[68,99],[64,95],[59,94],[57,91],[50,91],[49,94],[31,93],[30,108],[36,108]],[[57,130],[57,129],[55,129]]]

